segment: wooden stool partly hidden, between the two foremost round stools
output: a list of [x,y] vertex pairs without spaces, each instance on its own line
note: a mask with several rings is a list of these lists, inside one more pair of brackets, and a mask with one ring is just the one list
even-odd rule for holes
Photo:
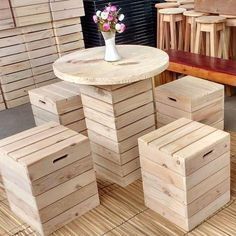
[[208,14],[203,12],[196,12],[193,10],[184,12],[184,16],[186,17],[184,51],[186,52],[190,51],[192,53],[194,52],[196,30],[197,30],[196,18],[205,15]]

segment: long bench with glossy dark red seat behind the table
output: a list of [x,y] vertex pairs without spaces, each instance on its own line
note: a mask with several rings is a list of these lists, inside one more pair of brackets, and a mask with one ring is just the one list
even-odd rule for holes
[[[236,86],[236,61],[224,60],[199,54],[168,50],[170,64],[167,75],[163,75],[161,83],[175,79],[170,72],[192,75],[216,83]],[[156,83],[157,84],[157,83]]]

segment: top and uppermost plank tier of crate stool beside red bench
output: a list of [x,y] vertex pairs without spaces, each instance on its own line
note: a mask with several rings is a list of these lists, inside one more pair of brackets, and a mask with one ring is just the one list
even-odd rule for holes
[[157,102],[194,112],[224,100],[224,86],[193,76],[185,76],[155,88]]

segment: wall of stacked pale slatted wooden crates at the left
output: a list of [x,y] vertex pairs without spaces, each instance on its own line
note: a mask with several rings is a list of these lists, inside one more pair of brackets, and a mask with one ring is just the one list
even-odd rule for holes
[[28,103],[28,90],[59,81],[52,64],[84,48],[83,15],[82,0],[1,0],[0,110],[3,102]]

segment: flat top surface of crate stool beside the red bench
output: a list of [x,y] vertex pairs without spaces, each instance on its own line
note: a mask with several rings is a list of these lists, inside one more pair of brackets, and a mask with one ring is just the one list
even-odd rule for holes
[[162,90],[194,100],[208,96],[214,92],[222,91],[224,90],[224,86],[194,76],[185,76],[156,88],[157,92]]

